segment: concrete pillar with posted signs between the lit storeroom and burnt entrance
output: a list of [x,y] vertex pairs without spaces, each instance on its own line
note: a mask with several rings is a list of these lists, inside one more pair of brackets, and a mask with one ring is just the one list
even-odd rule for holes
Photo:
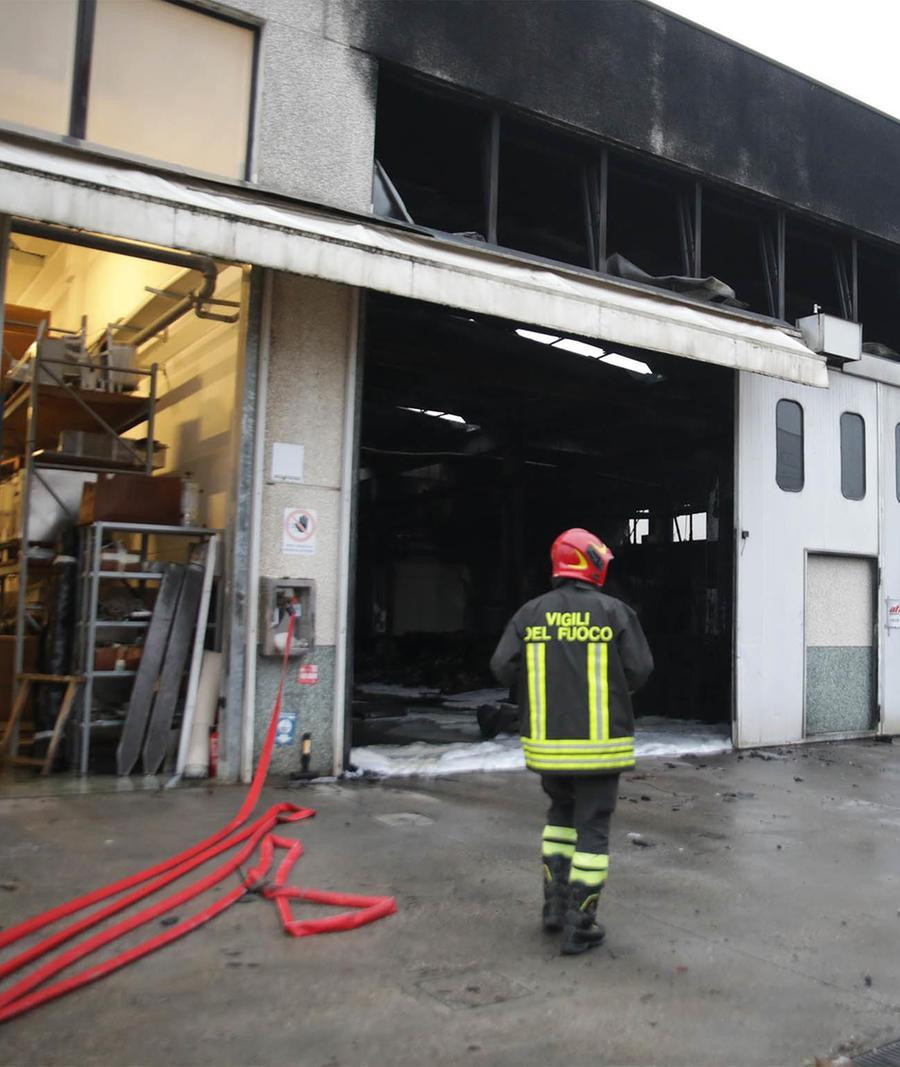
[[[342,582],[347,531],[342,531],[342,482],[345,478],[345,408],[356,345],[357,291],[347,286],[291,274],[273,280],[271,335],[267,373],[265,466],[259,542],[260,577],[314,578],[316,582],[316,647],[303,663],[318,669],[314,685],[298,684],[299,664],[291,660],[284,710],[298,714],[297,740],[277,746],[274,774],[296,770],[299,738],[313,735],[313,769],[333,768],[335,666],[344,628]],[[271,481],[272,445],[299,444],[304,449],[302,484]],[[348,467],[350,469],[350,467]],[[315,512],[315,551],[284,551],[285,509]],[[342,532],[344,543],[342,543]],[[260,656],[256,663],[255,754],[275,699],[281,659]],[[340,691],[340,687],[338,687]]]

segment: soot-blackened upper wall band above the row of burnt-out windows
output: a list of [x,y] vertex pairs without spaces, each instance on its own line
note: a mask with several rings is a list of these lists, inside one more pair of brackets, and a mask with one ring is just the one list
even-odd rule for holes
[[344,0],[329,34],[900,241],[900,124],[648,3]]

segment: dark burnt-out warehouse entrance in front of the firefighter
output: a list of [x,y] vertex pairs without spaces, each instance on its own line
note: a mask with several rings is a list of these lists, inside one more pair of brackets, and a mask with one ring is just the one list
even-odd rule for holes
[[647,632],[637,715],[729,729],[733,373],[375,294],[365,321],[357,755],[509,727],[488,660],[569,526]]

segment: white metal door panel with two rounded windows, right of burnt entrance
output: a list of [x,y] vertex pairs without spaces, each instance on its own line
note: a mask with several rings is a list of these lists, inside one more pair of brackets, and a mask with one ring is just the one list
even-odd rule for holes
[[[839,371],[828,378],[827,391],[744,372],[739,378],[736,739],[741,747],[803,737],[806,553],[878,555],[878,386]],[[800,493],[775,483],[775,405],[783,397],[804,411],[806,477]],[[840,491],[844,411],[866,420],[863,500],[847,500]]]

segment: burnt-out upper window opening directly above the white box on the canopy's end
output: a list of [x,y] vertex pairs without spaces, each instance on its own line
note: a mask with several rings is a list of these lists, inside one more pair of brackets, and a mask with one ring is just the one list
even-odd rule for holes
[[850,241],[820,226],[788,219],[785,245],[785,319],[819,310],[851,317]]

